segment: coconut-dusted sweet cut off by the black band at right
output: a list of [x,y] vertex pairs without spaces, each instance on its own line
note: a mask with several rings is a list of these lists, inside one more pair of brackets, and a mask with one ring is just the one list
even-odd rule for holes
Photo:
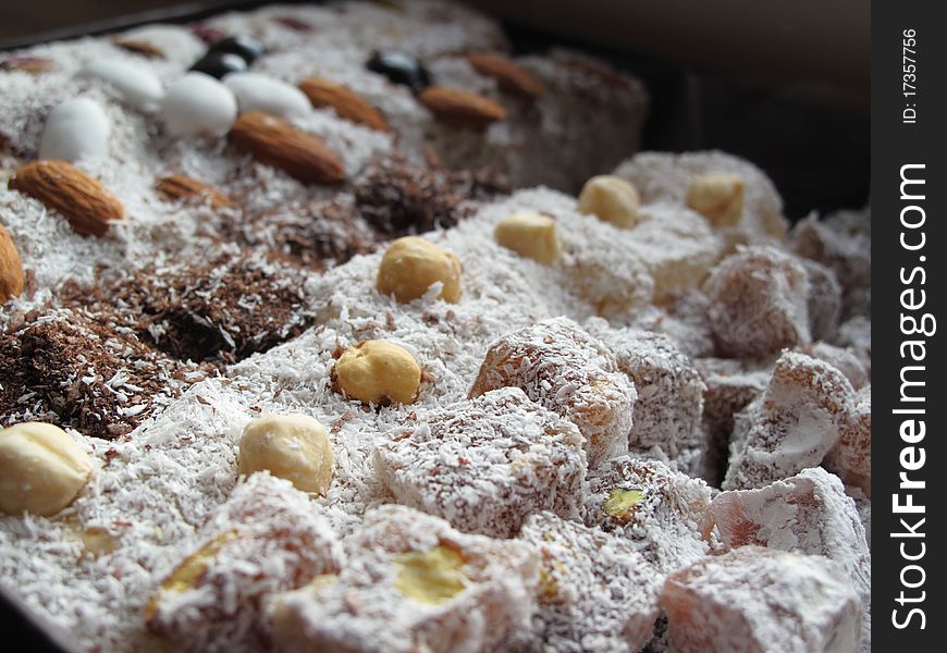
[[854,406],[843,423],[838,443],[825,456],[825,467],[849,485],[872,496],[872,386],[856,395]]

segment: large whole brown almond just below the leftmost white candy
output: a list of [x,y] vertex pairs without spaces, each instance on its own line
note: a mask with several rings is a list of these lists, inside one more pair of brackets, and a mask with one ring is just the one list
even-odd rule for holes
[[67,161],[27,163],[8,187],[59,211],[83,236],[103,236],[110,222],[125,217],[125,207],[108,188]]

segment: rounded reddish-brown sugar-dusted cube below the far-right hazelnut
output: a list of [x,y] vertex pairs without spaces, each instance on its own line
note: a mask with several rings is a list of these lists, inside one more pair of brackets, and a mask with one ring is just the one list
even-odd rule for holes
[[708,317],[721,355],[757,358],[810,342],[809,280],[792,256],[740,248],[708,279]]

